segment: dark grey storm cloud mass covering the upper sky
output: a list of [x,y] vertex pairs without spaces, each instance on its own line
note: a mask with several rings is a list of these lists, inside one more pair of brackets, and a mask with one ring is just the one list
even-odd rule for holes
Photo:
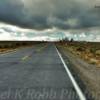
[[98,0],[0,0],[0,21],[37,30],[100,26]]

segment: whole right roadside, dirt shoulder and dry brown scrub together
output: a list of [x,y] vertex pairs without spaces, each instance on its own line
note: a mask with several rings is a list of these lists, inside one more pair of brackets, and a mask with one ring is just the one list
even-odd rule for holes
[[74,65],[73,70],[82,79],[95,100],[99,100],[100,43],[69,42],[59,43],[57,47],[65,56],[64,58],[69,58]]

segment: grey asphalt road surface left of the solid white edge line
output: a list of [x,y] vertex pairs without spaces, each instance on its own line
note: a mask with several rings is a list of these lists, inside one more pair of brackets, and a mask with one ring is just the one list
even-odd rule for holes
[[0,100],[80,100],[54,44],[0,55]]

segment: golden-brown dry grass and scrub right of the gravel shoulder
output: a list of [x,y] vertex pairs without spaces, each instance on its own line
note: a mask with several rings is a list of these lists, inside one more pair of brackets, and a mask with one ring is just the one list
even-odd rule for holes
[[61,45],[89,64],[100,67],[100,43],[73,42]]

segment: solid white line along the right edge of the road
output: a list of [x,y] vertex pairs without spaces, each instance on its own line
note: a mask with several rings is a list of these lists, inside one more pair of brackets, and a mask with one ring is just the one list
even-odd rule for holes
[[64,67],[65,67],[67,73],[68,73],[68,76],[70,77],[70,79],[71,79],[71,81],[72,81],[72,84],[73,84],[73,86],[74,86],[74,88],[75,88],[75,90],[76,90],[76,92],[77,92],[77,94],[78,94],[80,100],[86,100],[86,97],[85,97],[84,94],[82,93],[82,90],[80,89],[79,85],[77,84],[77,82],[75,81],[73,75],[71,74],[70,70],[68,69],[68,67],[67,67],[67,65],[66,65],[66,63],[65,63],[65,61],[64,61],[64,59],[62,58],[60,52],[58,51],[57,48],[56,48],[56,50],[57,50],[57,53],[58,53],[58,55],[59,55],[59,57],[60,57],[60,59],[61,59],[63,65],[64,65]]

